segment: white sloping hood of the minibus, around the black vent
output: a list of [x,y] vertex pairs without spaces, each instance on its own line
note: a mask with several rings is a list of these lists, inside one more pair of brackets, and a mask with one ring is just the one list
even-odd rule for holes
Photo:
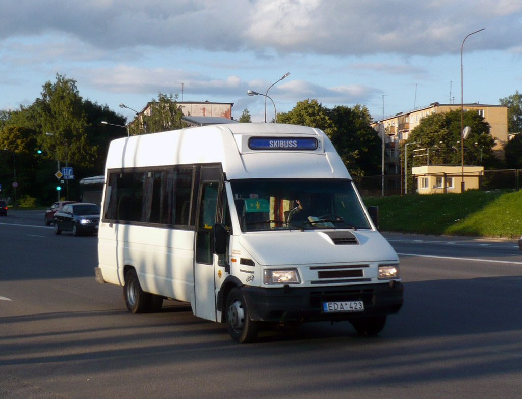
[[[331,239],[332,235],[342,238],[342,232],[354,236],[355,242],[336,243]],[[369,229],[249,232],[239,236],[239,243],[247,252],[242,251],[242,257],[250,255],[263,266],[398,261],[381,233]]]

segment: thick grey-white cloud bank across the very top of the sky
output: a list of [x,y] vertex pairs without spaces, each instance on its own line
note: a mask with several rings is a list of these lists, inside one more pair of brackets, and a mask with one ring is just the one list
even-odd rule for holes
[[516,46],[521,16],[514,0],[20,0],[3,5],[0,39],[58,31],[105,49],[440,55],[458,52],[461,39],[482,27],[476,48]]

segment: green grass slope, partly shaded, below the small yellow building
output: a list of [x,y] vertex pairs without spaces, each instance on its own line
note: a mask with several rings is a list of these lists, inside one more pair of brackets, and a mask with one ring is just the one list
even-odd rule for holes
[[420,234],[519,238],[522,191],[365,197],[379,207],[379,229]]

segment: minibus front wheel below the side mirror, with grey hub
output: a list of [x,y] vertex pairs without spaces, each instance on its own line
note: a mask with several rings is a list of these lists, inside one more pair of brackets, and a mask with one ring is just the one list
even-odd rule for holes
[[259,321],[248,314],[245,297],[239,288],[233,288],[227,295],[227,330],[234,341],[252,342],[259,332]]

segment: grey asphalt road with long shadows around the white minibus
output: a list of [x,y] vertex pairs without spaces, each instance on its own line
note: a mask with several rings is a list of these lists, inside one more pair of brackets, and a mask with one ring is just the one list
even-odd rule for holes
[[405,305],[384,331],[310,323],[234,343],[186,304],[131,315],[94,280],[96,236],[42,211],[0,217],[0,397],[520,398],[522,251],[515,242],[386,234]]

